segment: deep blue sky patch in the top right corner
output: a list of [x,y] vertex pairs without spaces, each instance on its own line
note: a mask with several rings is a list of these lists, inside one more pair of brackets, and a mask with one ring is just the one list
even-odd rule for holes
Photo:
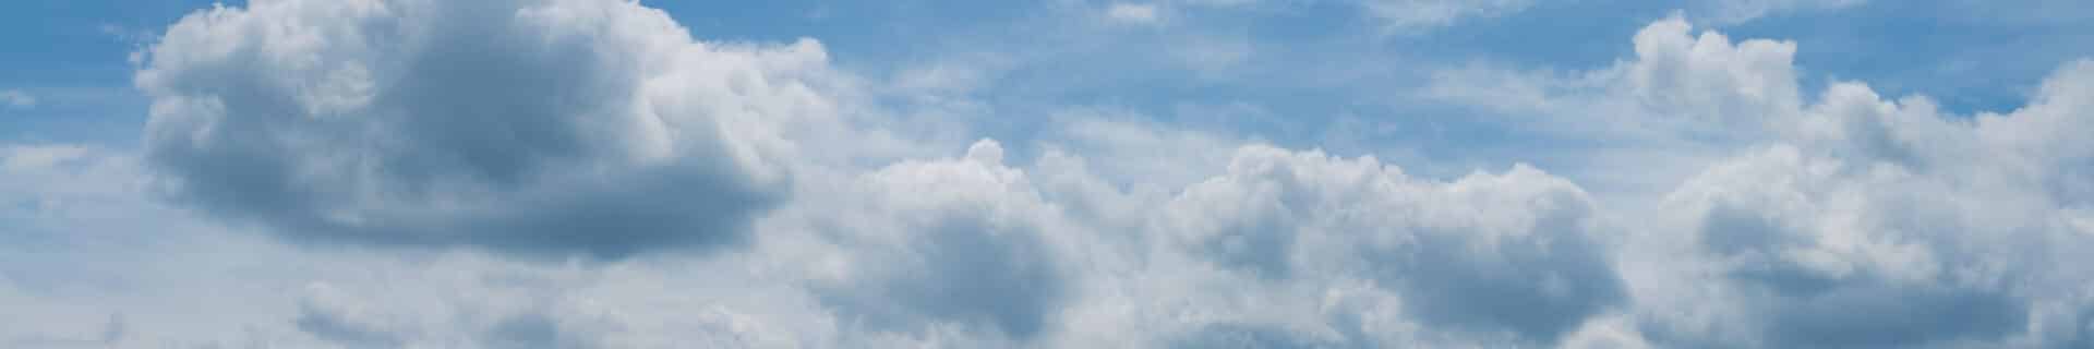
[[1866,82],[1922,94],[1954,115],[2008,113],[2063,63],[2094,56],[2094,2],[1866,2],[1725,27],[1732,38],[1797,42],[1805,92]]

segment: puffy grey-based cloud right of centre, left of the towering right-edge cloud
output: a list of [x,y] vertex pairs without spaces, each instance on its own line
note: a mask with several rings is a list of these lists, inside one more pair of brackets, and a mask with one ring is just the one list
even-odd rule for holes
[[1158,224],[1265,280],[1367,278],[1422,326],[1556,343],[1625,295],[1575,184],[1514,167],[1436,184],[1372,157],[1244,148]]

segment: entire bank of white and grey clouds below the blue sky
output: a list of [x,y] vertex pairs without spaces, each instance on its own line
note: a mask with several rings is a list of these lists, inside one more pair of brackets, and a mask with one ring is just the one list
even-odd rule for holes
[[218,6],[144,52],[140,150],[0,146],[0,347],[2094,343],[2094,61],[1954,115],[1688,19],[1416,90],[1677,157],[1428,176],[1099,113],[982,138],[639,2]]

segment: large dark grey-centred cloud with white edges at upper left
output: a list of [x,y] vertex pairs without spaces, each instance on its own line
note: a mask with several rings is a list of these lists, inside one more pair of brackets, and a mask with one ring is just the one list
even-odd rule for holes
[[833,115],[827,54],[691,40],[616,0],[260,2],[136,73],[147,157],[295,240],[624,257],[739,245],[783,201],[775,123]]

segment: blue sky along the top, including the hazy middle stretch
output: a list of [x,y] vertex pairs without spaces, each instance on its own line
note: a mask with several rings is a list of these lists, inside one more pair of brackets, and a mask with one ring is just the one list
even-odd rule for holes
[[[10,29],[0,40],[38,50],[8,54],[0,88],[29,92],[38,107],[6,111],[17,127],[0,130],[0,138],[134,146],[132,125],[142,123],[147,98],[130,88],[128,54],[151,44],[165,23],[209,4],[38,0],[23,4],[29,10],[8,10]],[[1384,157],[1401,148],[1430,161],[1397,161],[1439,176],[1476,163],[1537,161],[1495,153],[1543,144],[1527,142],[1533,134],[1466,121],[1476,115],[1460,104],[1411,98],[1430,71],[1478,63],[1598,69],[1633,54],[1625,38],[1644,23],[1675,13],[1707,19],[1700,25],[1732,38],[1797,42],[1795,65],[1811,86],[1805,90],[1868,82],[1889,96],[1931,96],[1958,115],[2010,111],[2056,65],[2094,50],[2077,44],[2094,27],[2075,21],[2073,13],[2086,10],[2073,2],[1767,4],[1772,10],[1757,17],[1723,19],[1740,17],[1725,6],[1755,4],[1522,2],[1518,10],[1390,33],[1349,2],[1162,4],[1160,23],[1131,27],[1101,23],[1110,19],[1097,19],[1097,4],[1081,2],[649,2],[706,40],[821,40],[838,67],[869,77],[934,67],[984,75],[988,82],[970,86],[967,96],[1011,115],[999,117],[1007,130],[984,130],[997,138],[1030,138],[1064,107],[1122,109],[1164,123],[1187,117],[1187,109],[1235,109],[1254,115],[1202,115],[1219,121],[1191,123],[1298,148]],[[1198,67],[1173,59],[1223,48],[1240,50],[1240,61]],[[1317,125],[1346,117],[1428,134],[1328,142]]]

